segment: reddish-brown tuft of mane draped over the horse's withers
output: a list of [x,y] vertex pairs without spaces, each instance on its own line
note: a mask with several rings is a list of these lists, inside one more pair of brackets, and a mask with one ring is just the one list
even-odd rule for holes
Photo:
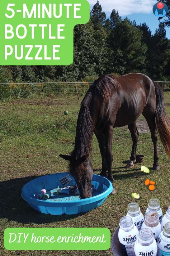
[[100,92],[105,101],[108,100],[111,95],[110,85],[114,86],[115,90],[117,90],[119,86],[119,83],[112,75],[102,75],[93,83],[93,86]]

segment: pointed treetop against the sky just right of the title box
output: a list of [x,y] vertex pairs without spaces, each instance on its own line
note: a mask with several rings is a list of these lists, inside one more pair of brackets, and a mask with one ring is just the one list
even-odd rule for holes
[[105,12],[102,12],[102,8],[99,4],[99,1],[97,1],[97,3],[93,6],[90,12],[90,19],[93,22],[95,28],[104,25],[106,14]]

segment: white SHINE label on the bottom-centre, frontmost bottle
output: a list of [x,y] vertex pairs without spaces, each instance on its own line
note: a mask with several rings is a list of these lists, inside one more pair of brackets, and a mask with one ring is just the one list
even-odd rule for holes
[[149,246],[142,246],[136,241],[134,245],[135,256],[156,256],[157,254],[157,245],[154,239],[154,242]]

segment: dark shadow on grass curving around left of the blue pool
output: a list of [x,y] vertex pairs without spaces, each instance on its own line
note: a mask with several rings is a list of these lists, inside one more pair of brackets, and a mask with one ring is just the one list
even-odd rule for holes
[[[21,190],[27,182],[38,177],[39,176],[31,176],[0,182],[0,218],[6,218],[8,221],[12,220],[24,224],[45,224],[55,221],[70,220],[84,215],[50,215],[33,210],[33,208],[22,199]],[[54,225],[54,227],[57,227],[57,225]]]

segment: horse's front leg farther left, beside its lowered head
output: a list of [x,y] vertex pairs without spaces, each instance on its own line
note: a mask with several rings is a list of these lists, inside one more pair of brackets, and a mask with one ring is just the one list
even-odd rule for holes
[[105,151],[105,136],[103,133],[96,133],[96,138],[99,143],[99,148],[100,148],[100,154],[101,154],[101,160],[102,160],[102,171],[100,172],[99,175],[101,176],[107,176],[107,162],[106,162],[106,151]]

